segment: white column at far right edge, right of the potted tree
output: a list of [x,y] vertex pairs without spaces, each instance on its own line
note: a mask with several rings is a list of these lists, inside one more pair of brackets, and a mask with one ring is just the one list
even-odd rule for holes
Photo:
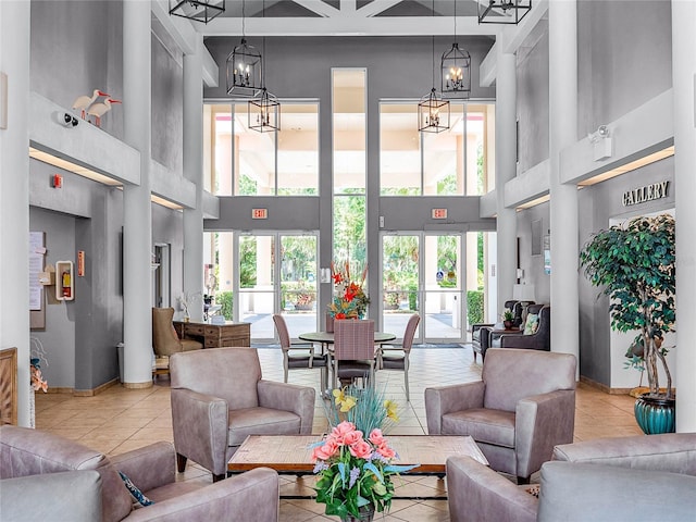
[[676,208],[676,431],[696,432],[696,2],[672,0],[674,203]]

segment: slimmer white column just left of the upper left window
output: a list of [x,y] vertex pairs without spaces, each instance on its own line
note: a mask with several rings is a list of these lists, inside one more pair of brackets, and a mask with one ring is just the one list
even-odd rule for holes
[[196,208],[184,209],[184,291],[196,296],[191,320],[203,319],[203,37],[184,57],[184,176],[196,185]]

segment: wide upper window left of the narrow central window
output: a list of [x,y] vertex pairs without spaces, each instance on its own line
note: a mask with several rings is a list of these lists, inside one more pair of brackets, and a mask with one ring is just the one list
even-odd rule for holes
[[206,104],[206,188],[216,196],[319,192],[319,103],[281,104],[281,130],[248,128],[247,102]]

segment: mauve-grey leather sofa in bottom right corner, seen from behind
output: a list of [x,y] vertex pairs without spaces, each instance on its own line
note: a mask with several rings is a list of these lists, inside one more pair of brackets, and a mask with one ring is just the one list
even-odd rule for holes
[[[447,460],[452,522],[696,520],[696,433],[556,446],[538,490],[469,457]],[[536,493],[538,497],[533,495]]]

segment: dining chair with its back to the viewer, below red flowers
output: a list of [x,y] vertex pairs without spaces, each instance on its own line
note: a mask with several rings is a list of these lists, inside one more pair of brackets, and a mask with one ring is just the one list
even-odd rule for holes
[[365,377],[374,383],[374,321],[344,319],[334,322],[334,388],[338,380]]

